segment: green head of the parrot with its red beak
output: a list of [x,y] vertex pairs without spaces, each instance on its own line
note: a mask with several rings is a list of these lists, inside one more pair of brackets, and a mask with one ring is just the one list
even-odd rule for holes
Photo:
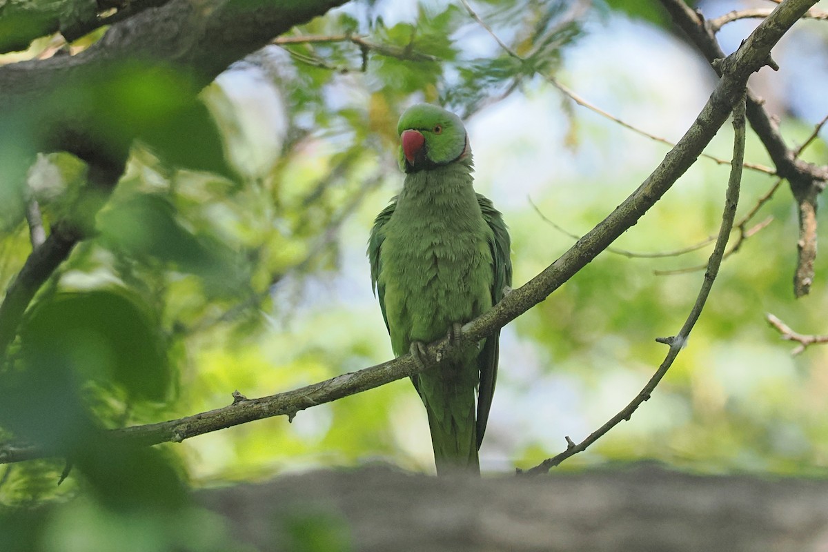
[[469,137],[454,113],[428,103],[407,108],[397,124],[400,168],[434,169],[470,156]]

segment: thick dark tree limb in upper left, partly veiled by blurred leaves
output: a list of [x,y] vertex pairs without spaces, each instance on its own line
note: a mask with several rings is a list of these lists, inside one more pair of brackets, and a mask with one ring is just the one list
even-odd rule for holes
[[21,133],[17,142],[0,146],[70,151],[84,159],[127,151],[142,125],[151,124],[136,120],[136,113],[157,113],[157,105],[152,94],[108,94],[125,64],[150,75],[174,71],[181,100],[195,98],[234,61],[344,2],[169,0],[109,27],[77,55],[0,66],[0,127]]

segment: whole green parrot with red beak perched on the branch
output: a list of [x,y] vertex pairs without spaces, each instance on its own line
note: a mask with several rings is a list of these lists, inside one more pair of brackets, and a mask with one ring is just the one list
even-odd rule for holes
[[[368,259],[394,354],[419,356],[424,343],[456,334],[503,298],[512,262],[501,214],[474,192],[460,118],[422,103],[402,113],[397,133],[405,183],[373,223]],[[498,337],[412,377],[426,406],[438,475],[480,471]]]

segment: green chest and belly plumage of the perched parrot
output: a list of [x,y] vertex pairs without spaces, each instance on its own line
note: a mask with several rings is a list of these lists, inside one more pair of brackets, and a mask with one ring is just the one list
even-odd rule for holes
[[469,175],[408,175],[384,230],[378,284],[385,289],[395,354],[407,353],[412,341],[434,341],[451,324],[491,308],[492,231]]

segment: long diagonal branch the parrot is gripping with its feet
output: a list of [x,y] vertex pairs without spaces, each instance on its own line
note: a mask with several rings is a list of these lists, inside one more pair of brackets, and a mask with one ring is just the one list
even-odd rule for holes
[[[724,75],[720,79],[710,99],[701,110],[681,140],[667,153],[662,163],[653,170],[647,180],[633,191],[607,218],[580,238],[574,246],[559,257],[544,271],[532,278],[525,285],[513,290],[492,310],[479,316],[463,326],[459,336],[451,341],[442,338],[426,348],[423,367],[419,367],[410,354],[377,366],[364,368],[359,372],[344,374],[339,377],[288,391],[278,395],[240,400],[236,405],[224,409],[211,410],[181,420],[171,420],[161,424],[142,425],[123,430],[113,430],[113,437],[120,436],[141,444],[157,444],[165,441],[181,441],[196,434],[219,430],[232,425],[243,424],[274,415],[291,415],[298,410],[310,408],[324,402],[335,401],[344,396],[353,395],[384,385],[436,365],[436,357],[445,356],[465,348],[468,343],[478,343],[503,328],[532,306],[546,299],[554,290],[586,266],[623,232],[633,226],[648,209],[696,161],[700,152],[718,132],[727,120],[734,104],[744,92],[750,74],[764,65],[770,49],[797,22],[802,12],[811,7],[816,0],[787,0],[763,21],[748,41],[729,57],[724,64]],[[38,449],[36,445],[6,444],[0,447],[0,462],[16,462],[27,458],[54,454],[55,451]]]

